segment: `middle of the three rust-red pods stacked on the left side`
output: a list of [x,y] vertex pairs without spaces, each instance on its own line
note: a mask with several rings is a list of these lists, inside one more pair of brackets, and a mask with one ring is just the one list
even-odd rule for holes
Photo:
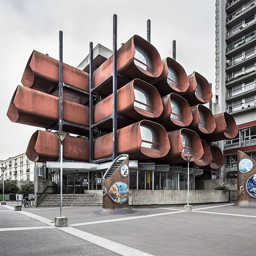
[[[52,129],[58,123],[59,98],[24,86],[17,86],[12,96],[7,116],[11,122]],[[89,125],[89,107],[63,100],[63,118],[66,122]],[[73,126],[63,126],[63,130],[77,134],[88,131]]]

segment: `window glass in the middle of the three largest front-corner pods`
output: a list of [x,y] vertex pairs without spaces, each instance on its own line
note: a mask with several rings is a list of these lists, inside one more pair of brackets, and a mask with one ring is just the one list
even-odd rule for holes
[[140,87],[134,86],[134,107],[153,112],[151,95]]

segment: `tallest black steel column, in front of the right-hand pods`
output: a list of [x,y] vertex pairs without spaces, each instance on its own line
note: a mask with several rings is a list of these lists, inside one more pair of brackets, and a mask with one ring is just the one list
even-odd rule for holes
[[117,15],[113,15],[113,105],[112,105],[112,158],[117,157]]

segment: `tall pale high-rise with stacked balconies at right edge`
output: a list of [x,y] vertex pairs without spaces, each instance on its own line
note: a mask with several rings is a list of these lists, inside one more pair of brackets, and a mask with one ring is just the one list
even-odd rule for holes
[[223,175],[235,177],[238,150],[256,159],[256,1],[216,0],[215,6],[216,95],[220,112],[230,113],[239,129],[220,142]]

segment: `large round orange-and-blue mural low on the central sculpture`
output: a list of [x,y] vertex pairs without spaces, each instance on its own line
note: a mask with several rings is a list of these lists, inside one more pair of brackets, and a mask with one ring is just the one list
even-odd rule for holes
[[129,196],[128,185],[122,181],[113,183],[113,185],[110,187],[109,196],[114,201],[114,203],[126,203]]

